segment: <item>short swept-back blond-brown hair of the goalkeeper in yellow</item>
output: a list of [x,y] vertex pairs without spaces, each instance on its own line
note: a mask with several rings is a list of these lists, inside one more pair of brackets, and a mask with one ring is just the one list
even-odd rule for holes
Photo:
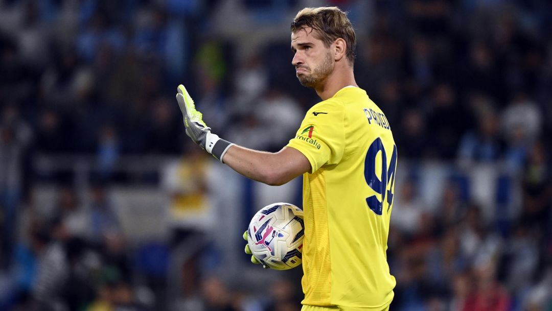
[[347,18],[347,14],[338,7],[304,8],[300,10],[293,22],[291,32],[310,27],[315,30],[317,39],[322,40],[329,47],[338,38],[342,38],[347,44],[347,60],[354,63],[357,57],[357,36],[354,34],[353,25]]

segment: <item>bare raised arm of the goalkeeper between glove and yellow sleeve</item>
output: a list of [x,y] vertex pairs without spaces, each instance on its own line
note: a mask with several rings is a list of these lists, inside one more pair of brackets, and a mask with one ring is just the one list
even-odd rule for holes
[[271,153],[232,145],[224,155],[224,163],[247,178],[267,185],[283,185],[310,168],[306,158],[298,165],[297,159],[290,157],[295,152],[298,151],[284,148]]

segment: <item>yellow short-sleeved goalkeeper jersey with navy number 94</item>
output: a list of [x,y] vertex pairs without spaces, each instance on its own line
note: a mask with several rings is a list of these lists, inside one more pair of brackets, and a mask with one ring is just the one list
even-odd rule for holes
[[295,138],[303,176],[302,304],[381,310],[394,296],[387,263],[397,148],[388,120],[357,87],[312,106]]

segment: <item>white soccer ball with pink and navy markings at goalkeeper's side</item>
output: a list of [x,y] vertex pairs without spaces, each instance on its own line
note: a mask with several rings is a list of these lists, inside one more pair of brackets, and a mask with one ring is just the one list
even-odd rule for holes
[[247,228],[251,253],[270,269],[287,270],[301,264],[303,211],[290,203],[273,203],[258,211]]

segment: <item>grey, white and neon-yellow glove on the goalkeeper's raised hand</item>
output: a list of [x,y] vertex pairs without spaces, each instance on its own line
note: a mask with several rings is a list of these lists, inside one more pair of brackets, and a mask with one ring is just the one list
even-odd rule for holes
[[195,110],[194,100],[182,84],[178,85],[176,100],[184,117],[186,135],[192,138],[206,152],[213,154],[213,157],[224,163],[222,158],[233,143],[225,141],[218,135],[211,133],[211,128],[203,122],[201,112]]

